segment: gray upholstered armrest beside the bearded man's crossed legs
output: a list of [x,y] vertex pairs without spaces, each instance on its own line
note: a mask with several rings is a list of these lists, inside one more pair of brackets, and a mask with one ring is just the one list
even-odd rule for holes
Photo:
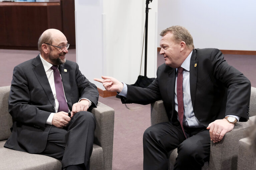
[[98,102],[91,112],[96,118],[94,143],[103,150],[103,169],[112,169],[113,135],[114,135],[114,109]]

